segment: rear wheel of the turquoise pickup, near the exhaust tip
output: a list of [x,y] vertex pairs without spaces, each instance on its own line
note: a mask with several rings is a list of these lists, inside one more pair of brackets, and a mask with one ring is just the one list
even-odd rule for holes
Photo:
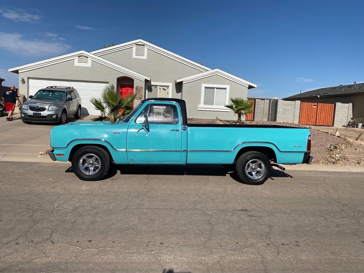
[[242,154],[236,162],[236,173],[248,185],[262,185],[270,176],[272,166],[268,157],[258,152]]

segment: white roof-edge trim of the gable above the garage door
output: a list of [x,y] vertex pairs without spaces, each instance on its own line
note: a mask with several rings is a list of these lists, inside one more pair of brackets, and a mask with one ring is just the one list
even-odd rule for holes
[[90,58],[91,60],[93,60],[96,63],[102,64],[104,66],[110,67],[116,71],[122,72],[128,76],[134,77],[136,79],[139,80],[148,80],[150,81],[150,78],[148,76],[145,76],[143,74],[140,74],[138,72],[135,72],[133,70],[130,70],[126,67],[120,66],[119,64],[113,63],[109,60],[103,59],[99,56],[96,56],[94,54],[91,54],[87,51],[81,50],[81,51],[77,51],[77,52],[73,52],[70,54],[66,54],[66,55],[62,55],[62,56],[58,56],[55,58],[50,58],[50,59],[46,59],[46,60],[42,60],[39,62],[35,62],[35,63],[30,63],[30,64],[25,64],[23,66],[17,66],[17,67],[13,67],[13,68],[9,68],[9,72],[14,72],[14,73],[22,73],[22,72],[26,72],[26,71],[31,71],[31,70],[35,70],[38,68],[42,68],[42,67],[47,67],[47,66],[51,66],[53,64],[57,64],[57,63],[63,63],[69,60],[74,60],[76,58],[78,58],[78,56],[86,56],[88,58]]

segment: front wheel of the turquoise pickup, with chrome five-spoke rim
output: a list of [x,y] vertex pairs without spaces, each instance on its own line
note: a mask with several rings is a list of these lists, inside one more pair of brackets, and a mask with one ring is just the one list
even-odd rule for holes
[[84,181],[102,179],[110,169],[108,153],[97,146],[86,146],[79,149],[72,158],[72,169],[75,175]]

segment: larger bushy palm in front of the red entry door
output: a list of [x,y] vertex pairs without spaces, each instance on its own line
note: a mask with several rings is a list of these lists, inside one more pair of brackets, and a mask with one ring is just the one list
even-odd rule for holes
[[137,94],[128,95],[126,98],[120,96],[120,92],[114,86],[105,86],[102,90],[101,98],[91,98],[95,110],[99,110],[101,115],[93,118],[92,121],[117,121],[124,118],[132,111],[131,103]]

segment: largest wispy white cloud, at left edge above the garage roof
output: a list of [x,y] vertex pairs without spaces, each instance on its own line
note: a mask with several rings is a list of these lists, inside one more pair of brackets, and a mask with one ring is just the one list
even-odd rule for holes
[[23,40],[19,33],[0,32],[0,48],[25,56],[60,55],[71,48],[68,44]]

